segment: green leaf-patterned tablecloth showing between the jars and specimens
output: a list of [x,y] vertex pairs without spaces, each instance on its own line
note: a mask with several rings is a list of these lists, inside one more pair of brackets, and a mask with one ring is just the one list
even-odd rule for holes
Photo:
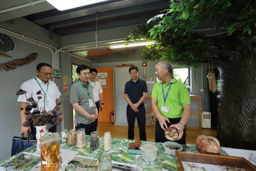
[[[112,155],[113,161],[127,163],[127,164],[135,164],[135,165],[137,164],[137,159],[140,157],[140,155],[139,154],[130,154],[127,152],[128,144],[130,142],[134,142],[134,140],[112,138],[111,151],[108,153],[110,153]],[[163,147],[162,143],[159,143],[159,142],[154,142],[154,143],[158,146],[158,158],[162,161],[163,168],[166,170],[177,170],[175,156],[170,156],[170,155],[166,154],[164,152],[164,147]],[[182,151],[198,153],[195,145],[182,145],[182,146],[183,146]],[[119,152],[118,152],[118,149],[120,147],[123,148],[123,153],[121,153],[121,154],[119,154]],[[77,155],[80,155],[80,156],[86,156],[86,157],[92,157],[92,158],[96,157],[97,158],[98,154],[100,152],[102,152],[103,137],[99,137],[99,148],[96,151],[91,151],[91,149],[90,149],[90,136],[89,135],[86,135],[86,147],[84,147],[84,148],[77,148],[76,146],[70,146],[67,143],[62,143],[62,142],[60,143],[60,148],[76,151],[76,152],[78,152]],[[36,151],[35,145],[25,150],[25,152],[28,152],[28,153],[34,153],[35,151]],[[228,154],[223,149],[221,149],[221,155],[228,156]],[[4,161],[1,161],[0,165],[5,163],[6,161],[11,160],[14,157],[15,156],[12,156]],[[31,162],[31,163],[40,162],[40,157],[38,157],[38,156],[31,156],[31,158],[34,158],[33,160],[29,160],[29,162]],[[31,164],[31,166],[34,166],[34,165],[35,164]],[[29,170],[29,166],[26,166],[26,168],[22,168],[21,170]]]

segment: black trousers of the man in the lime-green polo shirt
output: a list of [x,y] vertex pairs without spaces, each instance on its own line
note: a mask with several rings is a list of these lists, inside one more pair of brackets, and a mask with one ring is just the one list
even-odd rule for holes
[[[181,118],[173,118],[173,119],[168,118],[168,119],[169,119],[170,123],[166,122],[166,124],[167,124],[167,126],[170,126],[172,124],[179,123]],[[185,129],[183,130],[182,138],[177,140],[177,141],[174,141],[174,142],[177,142],[179,144],[186,144],[186,130],[187,129],[186,129],[186,126],[185,126]],[[169,141],[164,137],[164,130],[161,128],[158,120],[156,121],[155,141],[156,142]]]

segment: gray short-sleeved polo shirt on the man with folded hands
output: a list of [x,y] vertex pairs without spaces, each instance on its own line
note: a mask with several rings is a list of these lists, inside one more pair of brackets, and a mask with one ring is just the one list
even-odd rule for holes
[[[78,81],[79,80],[77,80],[70,88],[70,103],[78,103],[90,115],[93,115],[93,114],[95,114],[95,108],[94,108],[94,106],[89,107],[90,97],[94,101],[92,89],[91,89],[91,87],[89,87],[89,90],[90,90],[90,97],[89,97],[87,92],[80,86]],[[80,83],[82,84],[82,86],[85,87],[85,85],[81,81],[80,81]],[[90,85],[90,82],[88,81],[87,86],[89,86],[89,85]],[[87,117],[85,117],[85,116],[79,114],[77,111],[75,111],[75,126],[77,126],[77,123],[89,124],[92,122],[93,122],[92,119],[88,119]]]

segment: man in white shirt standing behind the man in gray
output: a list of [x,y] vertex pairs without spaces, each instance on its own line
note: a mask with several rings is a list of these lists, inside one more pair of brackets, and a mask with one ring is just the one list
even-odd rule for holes
[[[99,112],[103,109],[103,105],[104,105],[103,95],[102,95],[103,90],[100,86],[99,81],[96,81],[98,71],[96,69],[92,68],[92,69],[90,69],[90,72],[91,72],[91,76],[90,76],[89,82],[91,84],[91,88],[93,90],[93,98],[94,98],[95,104],[96,104],[98,112]],[[94,131],[97,130],[97,125],[98,125],[98,118],[94,122]]]

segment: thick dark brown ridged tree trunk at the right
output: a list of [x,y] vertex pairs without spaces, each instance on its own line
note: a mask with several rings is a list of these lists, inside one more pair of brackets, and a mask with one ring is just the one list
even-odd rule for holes
[[221,104],[217,138],[221,146],[256,149],[256,61],[220,64]]

